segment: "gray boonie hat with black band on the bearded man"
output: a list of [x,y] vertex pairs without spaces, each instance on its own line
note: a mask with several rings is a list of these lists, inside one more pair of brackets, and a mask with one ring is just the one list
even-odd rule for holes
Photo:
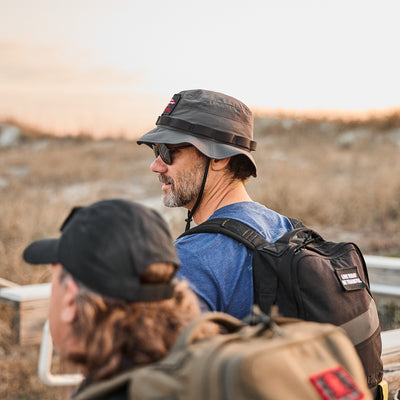
[[190,143],[207,157],[228,158],[244,154],[257,166],[251,151],[253,115],[241,101],[209,90],[184,90],[175,94],[156,122],[157,128],[138,139],[138,144]]

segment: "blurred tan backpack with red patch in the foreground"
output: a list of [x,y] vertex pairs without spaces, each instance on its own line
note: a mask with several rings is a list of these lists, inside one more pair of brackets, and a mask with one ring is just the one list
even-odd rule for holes
[[[74,399],[96,399],[126,384],[132,400],[372,399],[360,359],[341,328],[262,318],[248,326],[224,313],[203,314],[162,361],[88,386]],[[196,341],[206,321],[227,333]]]

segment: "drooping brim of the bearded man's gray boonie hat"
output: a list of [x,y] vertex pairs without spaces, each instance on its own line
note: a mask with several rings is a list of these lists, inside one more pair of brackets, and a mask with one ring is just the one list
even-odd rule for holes
[[237,154],[244,154],[253,163],[255,170],[257,170],[256,162],[248,150],[242,150],[239,147],[230,146],[227,144],[213,141],[209,138],[201,138],[194,136],[192,133],[180,131],[178,129],[158,126],[153,130],[144,134],[137,140],[138,144],[147,144],[151,146],[154,143],[164,144],[180,144],[190,143],[196,147],[201,153],[207,157],[222,160],[224,158],[232,157]]

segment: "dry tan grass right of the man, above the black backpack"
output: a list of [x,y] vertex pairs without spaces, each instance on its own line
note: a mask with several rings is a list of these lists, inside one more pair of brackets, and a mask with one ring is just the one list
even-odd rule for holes
[[400,255],[400,122],[377,126],[297,121],[285,129],[277,121],[259,127],[253,198],[323,231],[353,232],[365,251]]

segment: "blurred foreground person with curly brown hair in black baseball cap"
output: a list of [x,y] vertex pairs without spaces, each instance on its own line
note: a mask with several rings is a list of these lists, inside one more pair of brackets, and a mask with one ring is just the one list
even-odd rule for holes
[[[156,362],[200,314],[165,221],[121,199],[74,208],[61,236],[31,243],[23,258],[53,264],[49,327],[61,355],[78,364],[83,389]],[[125,399],[127,388],[102,399]]]

